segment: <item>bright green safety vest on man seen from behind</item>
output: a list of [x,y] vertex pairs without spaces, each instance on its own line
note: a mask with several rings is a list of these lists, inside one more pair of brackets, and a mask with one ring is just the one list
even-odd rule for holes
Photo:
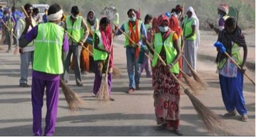
[[53,75],[63,73],[63,38],[63,27],[50,22],[38,25],[38,34],[34,46],[34,71]]

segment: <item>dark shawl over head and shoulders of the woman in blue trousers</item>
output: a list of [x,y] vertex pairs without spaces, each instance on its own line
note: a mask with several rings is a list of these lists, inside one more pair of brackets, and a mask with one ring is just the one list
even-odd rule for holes
[[[228,20],[233,20],[233,22],[236,22],[236,30],[235,30],[234,34],[227,34],[227,27],[225,26],[225,28],[222,31],[220,31],[220,33],[218,34],[218,41],[223,43],[224,47],[226,48],[227,53],[229,55],[231,55],[231,52],[232,52],[231,41],[233,41],[234,43],[237,43],[237,45],[239,45],[239,47],[246,46],[246,41],[245,41],[245,35],[242,33],[240,27],[237,26],[236,18],[229,17],[229,18],[227,18],[226,22]],[[226,55],[218,52],[217,57],[216,57],[216,62],[220,62],[224,58],[226,58]]]

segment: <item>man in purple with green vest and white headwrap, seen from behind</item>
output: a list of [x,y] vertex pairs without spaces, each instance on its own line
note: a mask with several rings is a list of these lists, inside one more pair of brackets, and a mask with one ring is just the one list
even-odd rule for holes
[[31,18],[26,18],[26,28],[19,40],[21,48],[26,47],[34,40],[34,61],[32,73],[32,107],[33,107],[33,134],[41,136],[41,108],[43,94],[46,88],[47,113],[45,117],[44,136],[54,135],[57,104],[59,99],[60,75],[63,73],[63,52],[68,51],[68,38],[63,27],[59,26],[63,10],[59,4],[49,7],[47,19],[49,22],[39,24],[27,33]]

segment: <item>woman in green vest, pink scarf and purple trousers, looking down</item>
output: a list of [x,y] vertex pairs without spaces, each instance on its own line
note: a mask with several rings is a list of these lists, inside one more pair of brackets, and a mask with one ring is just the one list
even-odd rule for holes
[[[112,84],[112,67],[113,67],[113,47],[112,36],[111,36],[111,26],[110,20],[107,17],[103,17],[100,20],[100,29],[94,31],[93,35],[93,59],[94,59],[94,85],[93,94],[96,96],[99,92],[100,86],[102,85],[102,74],[107,74],[107,84],[109,94],[111,92]],[[109,60],[110,58],[110,60]],[[107,71],[107,64],[109,62],[109,69]],[[115,99],[110,98],[110,101],[115,101]]]

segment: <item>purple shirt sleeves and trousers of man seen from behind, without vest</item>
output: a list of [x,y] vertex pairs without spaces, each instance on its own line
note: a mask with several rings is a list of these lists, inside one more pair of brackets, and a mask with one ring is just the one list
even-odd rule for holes
[[[24,36],[26,41],[32,41],[38,34],[38,26],[34,27]],[[36,47],[36,46],[35,46]],[[68,38],[64,34],[63,51],[68,51]],[[46,87],[47,114],[45,117],[45,136],[54,135],[57,119],[57,103],[59,99],[60,75],[52,75],[40,71],[32,73],[31,98],[33,106],[33,133],[41,136],[41,108],[43,106],[43,93]]]

